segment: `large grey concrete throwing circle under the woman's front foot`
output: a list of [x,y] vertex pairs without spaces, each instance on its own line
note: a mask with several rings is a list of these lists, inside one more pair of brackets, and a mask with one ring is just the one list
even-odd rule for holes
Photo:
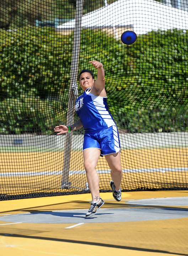
[[12,214],[0,217],[4,222],[21,223],[107,223],[188,218],[188,209],[178,208],[101,208],[86,219],[85,210],[62,210]]

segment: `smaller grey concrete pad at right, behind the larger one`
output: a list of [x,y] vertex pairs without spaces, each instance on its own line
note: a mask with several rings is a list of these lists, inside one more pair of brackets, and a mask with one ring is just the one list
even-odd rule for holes
[[188,197],[149,198],[129,200],[125,203],[148,206],[188,206]]

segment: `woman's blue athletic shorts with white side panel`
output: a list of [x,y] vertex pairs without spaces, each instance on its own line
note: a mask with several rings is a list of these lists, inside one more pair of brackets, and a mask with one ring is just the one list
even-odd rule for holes
[[97,148],[101,156],[118,153],[120,151],[119,134],[116,126],[111,126],[100,132],[84,134],[83,150]]

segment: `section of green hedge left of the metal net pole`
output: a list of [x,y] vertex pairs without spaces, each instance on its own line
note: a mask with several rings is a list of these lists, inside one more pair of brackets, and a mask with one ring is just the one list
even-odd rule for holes
[[72,43],[40,28],[3,31],[0,37],[0,132],[49,133],[57,122],[65,122],[59,101]]

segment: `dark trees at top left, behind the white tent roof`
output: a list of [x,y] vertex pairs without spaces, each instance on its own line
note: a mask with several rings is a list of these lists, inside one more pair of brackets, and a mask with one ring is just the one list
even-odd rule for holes
[[[114,0],[108,0],[111,4]],[[83,13],[104,6],[103,0],[85,0]],[[74,18],[76,0],[1,0],[0,28],[15,29],[23,26],[35,26],[36,20],[54,18]]]

